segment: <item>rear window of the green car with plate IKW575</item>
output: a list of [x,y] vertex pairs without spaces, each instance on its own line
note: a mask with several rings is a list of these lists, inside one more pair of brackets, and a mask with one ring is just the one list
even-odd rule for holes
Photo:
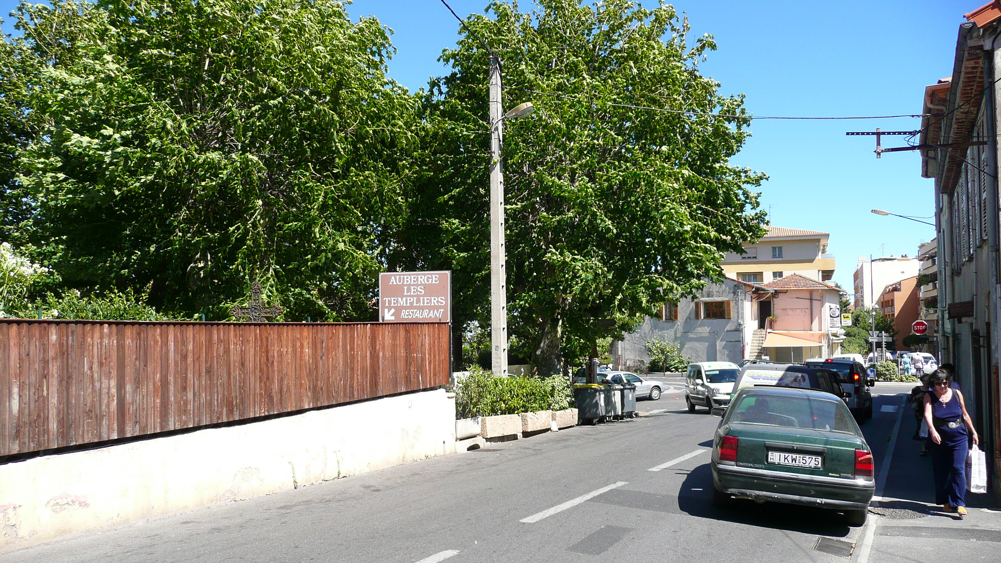
[[746,395],[731,406],[728,423],[808,428],[857,434],[852,417],[842,403],[810,397]]

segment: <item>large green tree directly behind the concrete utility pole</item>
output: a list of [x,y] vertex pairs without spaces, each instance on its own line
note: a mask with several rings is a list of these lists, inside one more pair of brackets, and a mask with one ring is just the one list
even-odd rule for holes
[[[749,135],[743,97],[724,97],[698,63],[712,37],[689,44],[671,6],[629,0],[537,9],[492,2],[465,20],[452,72],[423,100],[421,195],[399,253],[450,263],[482,316],[488,262],[489,53],[503,61],[510,107],[532,117],[505,132],[511,333],[540,373],[561,352],[582,355],[630,330],[667,299],[721,279],[725,251],[764,232],[754,212],[764,174],[728,164]],[[478,38],[478,39],[477,39]],[[634,105],[656,109],[636,108]],[[678,110],[699,112],[679,113]],[[718,117],[714,113],[739,115]],[[596,319],[615,319],[609,331]],[[514,346],[513,346],[514,348]]]

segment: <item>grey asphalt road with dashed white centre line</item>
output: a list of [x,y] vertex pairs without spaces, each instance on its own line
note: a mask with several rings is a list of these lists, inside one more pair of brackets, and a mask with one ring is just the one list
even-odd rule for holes
[[[913,426],[906,424],[913,418],[899,416],[903,395],[895,393],[909,387],[879,384],[877,392],[888,395],[877,397],[876,416],[863,429],[877,474],[891,445],[896,450],[884,497],[930,502],[915,500],[927,497],[927,487],[914,481],[922,477],[914,473],[920,462],[898,458],[906,450],[927,461],[916,457],[920,445],[907,440]],[[680,393],[642,401],[640,410],[652,414],[491,444],[0,560],[846,562],[849,558],[837,553],[858,544],[851,561],[860,561],[863,543],[867,557],[860,563],[889,560],[886,556],[896,553],[901,561],[942,561],[943,545],[949,546],[949,559],[1001,557],[1001,546],[994,543],[1001,542],[997,513],[977,515],[982,518],[977,543],[963,536],[969,522],[951,518],[933,522],[925,515],[920,526],[913,525],[917,519],[894,520],[874,527],[866,540],[868,527],[849,527],[825,510],[750,501],[713,508],[708,450],[719,419],[705,409],[689,414]],[[900,440],[890,441],[898,418]],[[933,528],[946,529],[945,536],[927,531]]]

